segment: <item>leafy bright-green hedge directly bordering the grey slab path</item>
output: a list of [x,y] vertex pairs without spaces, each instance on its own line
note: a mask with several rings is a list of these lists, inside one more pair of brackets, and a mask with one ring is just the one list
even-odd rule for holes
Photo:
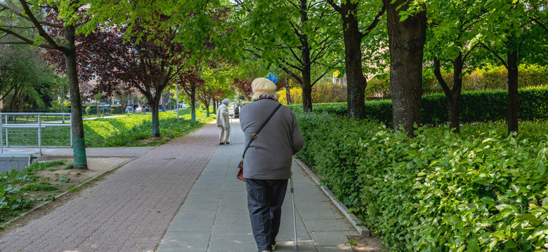
[[296,116],[306,139],[296,157],[392,250],[548,248],[548,134],[432,127],[409,139],[371,121]]

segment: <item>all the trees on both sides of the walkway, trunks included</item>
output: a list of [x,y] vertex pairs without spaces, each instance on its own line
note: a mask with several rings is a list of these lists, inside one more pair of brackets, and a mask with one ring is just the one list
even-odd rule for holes
[[[348,80],[348,116],[363,118],[366,76],[389,66],[394,127],[412,136],[422,120],[424,66],[435,69],[458,132],[462,75],[499,60],[509,70],[509,132],[517,132],[517,64],[546,64],[548,44],[542,0],[4,0],[0,13],[22,20],[0,25],[3,41],[44,48],[67,73],[72,134],[81,139],[74,153],[85,145],[78,80],[91,75],[98,76],[96,92],[147,97],[157,136],[159,95],[174,83],[194,109],[197,98],[223,97],[233,78],[245,90],[260,69],[279,69],[301,85],[304,111],[311,111],[311,87],[337,69]],[[25,36],[27,28],[39,36]],[[443,69],[453,69],[452,87]]]

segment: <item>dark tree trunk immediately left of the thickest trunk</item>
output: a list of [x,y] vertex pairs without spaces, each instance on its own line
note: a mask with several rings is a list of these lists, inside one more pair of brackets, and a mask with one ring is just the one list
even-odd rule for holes
[[362,33],[358,27],[358,3],[341,4],[344,36],[344,62],[346,63],[347,112],[350,118],[365,118],[365,87],[367,78],[362,69]]

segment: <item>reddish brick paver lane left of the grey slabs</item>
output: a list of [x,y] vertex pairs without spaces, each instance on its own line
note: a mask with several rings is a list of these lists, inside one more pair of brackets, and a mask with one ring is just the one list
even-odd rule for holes
[[0,251],[154,251],[216,151],[218,130],[158,146],[46,216],[0,237]]

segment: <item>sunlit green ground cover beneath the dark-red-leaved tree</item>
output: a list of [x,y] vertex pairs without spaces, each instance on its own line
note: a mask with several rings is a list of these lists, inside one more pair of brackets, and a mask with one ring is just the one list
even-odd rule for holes
[[[159,113],[160,134],[174,138],[195,130],[210,120],[204,111],[197,111],[198,122],[190,120],[190,109],[180,110],[181,120],[177,120],[175,111]],[[150,115],[103,118],[84,122],[86,145],[88,147],[139,146],[139,141],[151,135]],[[154,143],[158,144],[158,143]]]

